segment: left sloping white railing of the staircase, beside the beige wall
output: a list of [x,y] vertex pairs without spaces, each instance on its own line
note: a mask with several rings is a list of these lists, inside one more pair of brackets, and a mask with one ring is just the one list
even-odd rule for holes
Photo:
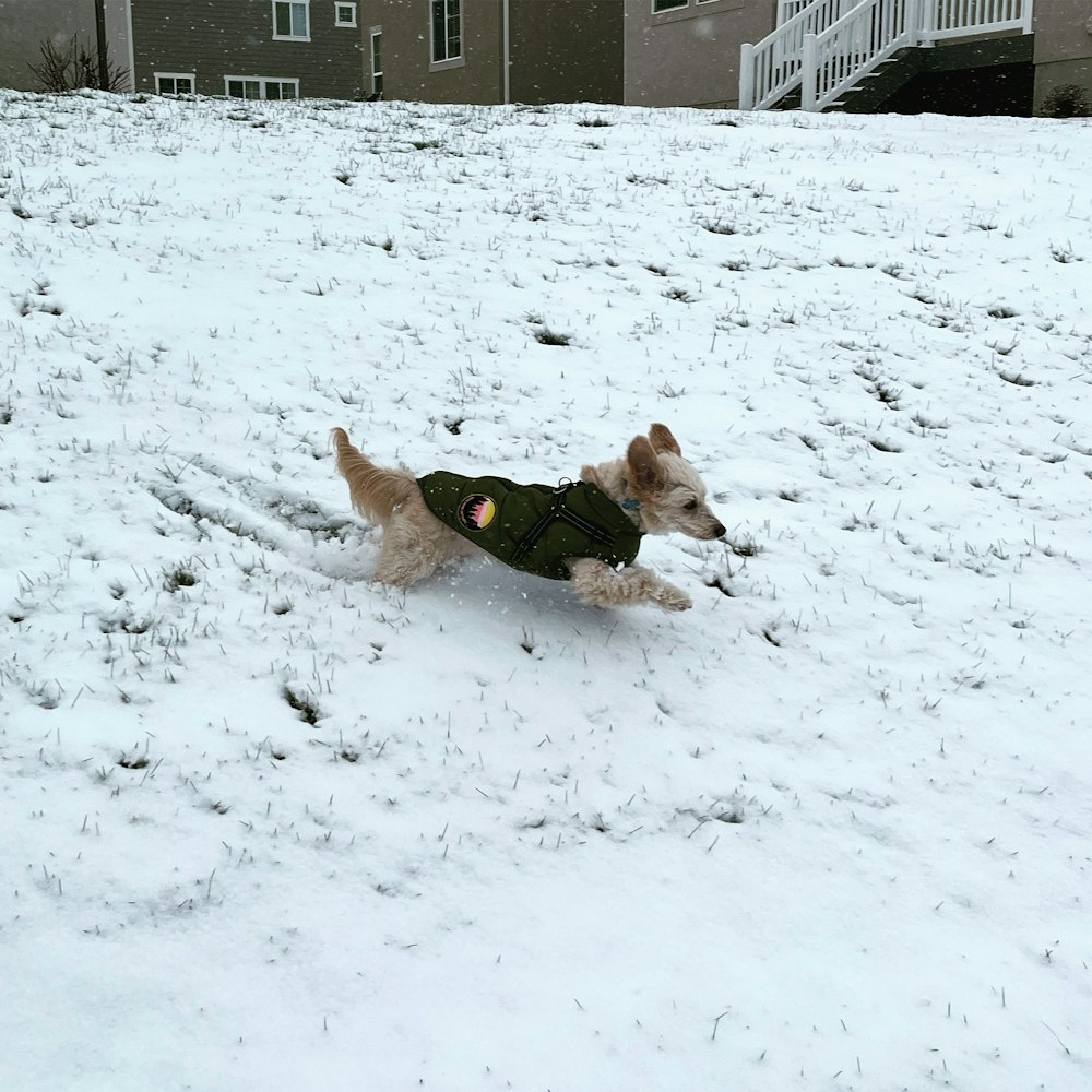
[[739,57],[739,109],[764,110],[800,85],[804,38],[822,34],[864,0],[781,0],[780,25]]

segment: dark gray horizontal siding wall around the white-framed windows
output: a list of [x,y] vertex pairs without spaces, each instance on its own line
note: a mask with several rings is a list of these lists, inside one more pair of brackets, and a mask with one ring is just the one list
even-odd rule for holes
[[361,11],[357,26],[334,25],[334,0],[310,0],[310,41],[273,40],[271,0],[132,0],[138,91],[154,73],[194,73],[200,95],[223,95],[224,78],[299,80],[304,98],[360,98]]

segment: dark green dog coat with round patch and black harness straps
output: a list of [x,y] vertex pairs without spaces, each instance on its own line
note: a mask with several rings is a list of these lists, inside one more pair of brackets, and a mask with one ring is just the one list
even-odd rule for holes
[[567,557],[612,568],[632,565],[641,547],[633,521],[587,482],[517,485],[507,478],[436,471],[417,479],[429,511],[513,569],[568,580]]

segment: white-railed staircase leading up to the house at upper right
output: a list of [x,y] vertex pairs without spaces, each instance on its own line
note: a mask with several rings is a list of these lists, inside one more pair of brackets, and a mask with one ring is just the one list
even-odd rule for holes
[[1032,33],[1034,0],[780,0],[778,28],[740,47],[739,109],[844,105],[906,50]]

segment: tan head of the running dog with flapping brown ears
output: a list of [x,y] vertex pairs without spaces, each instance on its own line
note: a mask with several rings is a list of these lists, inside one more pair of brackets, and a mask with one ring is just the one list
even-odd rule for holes
[[701,476],[682,458],[678,440],[666,425],[653,425],[646,437],[630,441],[626,470],[649,534],[678,531],[705,541],[724,534],[724,524],[705,503]]

